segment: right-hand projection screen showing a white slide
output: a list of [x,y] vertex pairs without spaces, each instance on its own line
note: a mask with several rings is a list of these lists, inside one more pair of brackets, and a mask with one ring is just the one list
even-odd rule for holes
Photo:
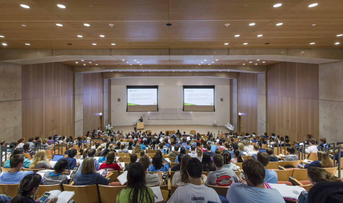
[[214,111],[214,85],[184,85],[184,111]]

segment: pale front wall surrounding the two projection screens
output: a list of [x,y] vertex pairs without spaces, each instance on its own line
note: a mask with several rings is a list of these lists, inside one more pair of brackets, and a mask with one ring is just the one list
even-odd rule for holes
[[[194,124],[212,125],[217,120],[218,126],[224,126],[229,122],[229,80],[211,77],[156,77],[156,78],[126,78],[111,80],[111,124],[112,126],[132,125],[132,121],[143,117],[144,124]],[[125,85],[159,85],[158,108],[183,108],[182,85],[215,85],[214,107],[215,112],[193,111],[192,120],[148,120],[147,112],[126,112],[127,92]],[[120,101],[118,101],[120,98]],[[224,101],[220,101],[223,98]]]

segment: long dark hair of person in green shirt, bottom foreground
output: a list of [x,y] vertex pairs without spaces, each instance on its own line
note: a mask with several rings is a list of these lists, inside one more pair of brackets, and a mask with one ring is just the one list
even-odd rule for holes
[[[141,163],[135,162],[130,165],[127,179],[128,179],[128,182],[125,189],[133,188],[133,190],[130,190],[130,193],[126,195],[129,198],[128,202],[151,203],[154,201],[154,199],[150,198],[148,188],[145,186],[146,184],[145,170]],[[122,190],[119,191],[119,195],[121,191]],[[132,199],[130,199],[131,196],[132,196]]]

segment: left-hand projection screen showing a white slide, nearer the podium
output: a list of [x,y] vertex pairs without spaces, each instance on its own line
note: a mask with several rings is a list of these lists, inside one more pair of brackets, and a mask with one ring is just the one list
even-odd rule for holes
[[158,86],[126,86],[126,111],[158,111]]

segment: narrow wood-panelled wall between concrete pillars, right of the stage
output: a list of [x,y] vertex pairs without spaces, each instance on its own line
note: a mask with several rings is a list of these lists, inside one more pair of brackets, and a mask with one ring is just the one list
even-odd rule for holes
[[[238,73],[237,111],[241,112],[241,131],[257,133],[257,74]],[[238,116],[239,117],[239,116]],[[237,128],[238,131],[239,128]]]

